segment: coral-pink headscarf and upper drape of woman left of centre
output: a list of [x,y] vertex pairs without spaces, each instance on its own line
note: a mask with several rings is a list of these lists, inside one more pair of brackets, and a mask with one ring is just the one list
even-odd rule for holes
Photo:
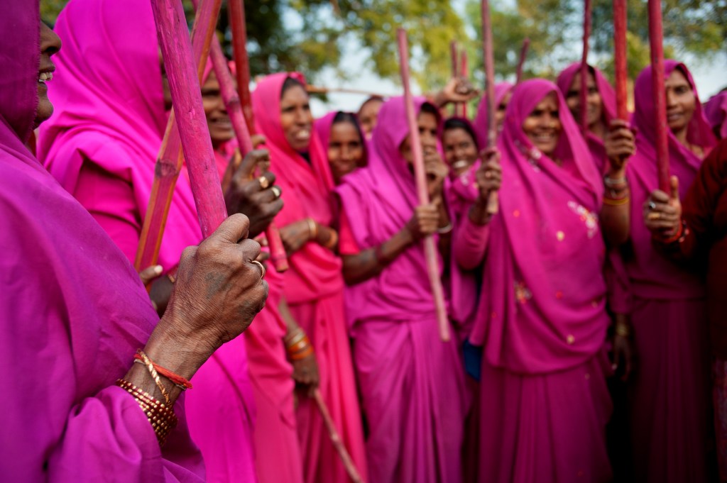
[[[305,78],[300,73],[277,73],[263,78],[252,93],[257,131],[265,136],[271,169],[283,190],[285,206],[276,222],[285,226],[310,216],[318,223],[331,226],[334,184],[321,140],[313,129],[308,163],[301,153],[290,147],[280,123],[281,92],[289,77],[305,85]],[[315,301],[343,290],[341,261],[328,248],[306,243],[289,261],[292,269],[285,277],[286,297],[292,304]]]

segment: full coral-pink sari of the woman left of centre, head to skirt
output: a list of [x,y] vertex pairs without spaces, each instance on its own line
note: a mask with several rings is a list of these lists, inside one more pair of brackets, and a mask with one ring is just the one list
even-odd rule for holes
[[[281,92],[288,77],[305,84],[299,73],[278,73],[262,79],[252,94],[257,131],[265,136],[272,170],[285,200],[276,220],[279,226],[286,226],[312,217],[331,226],[333,180],[318,136],[315,132],[311,135],[308,163],[290,147],[281,127]],[[284,275],[286,300],[316,349],[321,394],[343,443],[365,477],[364,434],[345,327],[341,261],[328,248],[306,243],[289,257],[289,263],[290,269]],[[297,422],[305,482],[348,481],[312,399],[299,399]]]

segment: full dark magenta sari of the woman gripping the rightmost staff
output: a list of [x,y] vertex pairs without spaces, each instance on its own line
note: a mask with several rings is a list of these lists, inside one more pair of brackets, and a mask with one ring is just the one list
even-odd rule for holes
[[[664,62],[665,76],[680,69],[694,90],[695,110],[687,140],[706,155],[715,137],[702,115],[686,66]],[[638,370],[630,378],[632,448],[637,481],[706,481],[710,405],[709,344],[701,274],[688,272],[654,251],[643,222],[643,203],[657,187],[656,129],[651,68],[635,84],[636,153],[627,166],[631,187],[632,255],[627,258],[633,299],[631,320]],[[686,195],[702,159],[669,133],[669,163]],[[667,464],[668,463],[668,464]]]

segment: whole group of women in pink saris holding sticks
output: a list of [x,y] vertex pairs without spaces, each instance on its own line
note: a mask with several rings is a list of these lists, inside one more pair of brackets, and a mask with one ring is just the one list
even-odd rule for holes
[[[488,149],[484,103],[444,114],[475,95],[465,80],[415,98],[422,206],[403,97],[314,121],[300,73],[266,76],[260,149],[237,166],[210,64],[232,216],[203,240],[182,167],[147,294],[130,262],[172,107],[148,0],[71,0],[55,33],[23,0],[0,24],[14,481],[346,482],[316,397],[367,482],[727,479],[727,97],[703,112],[685,65],[666,62],[670,192],[651,68],[626,122],[592,67],[582,109],[571,65],[496,86]],[[283,273],[249,240],[273,219]],[[614,373],[630,432],[607,441]]]

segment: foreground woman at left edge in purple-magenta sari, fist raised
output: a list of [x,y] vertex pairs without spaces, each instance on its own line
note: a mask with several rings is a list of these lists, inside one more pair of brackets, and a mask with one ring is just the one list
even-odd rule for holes
[[0,471],[12,482],[203,482],[182,391],[134,364],[134,351],[191,378],[265,303],[260,269],[246,261],[260,247],[241,240],[244,216],[231,216],[185,251],[159,320],[124,253],[25,145],[53,109],[46,82],[60,41],[39,25],[38,1],[4,5]]

